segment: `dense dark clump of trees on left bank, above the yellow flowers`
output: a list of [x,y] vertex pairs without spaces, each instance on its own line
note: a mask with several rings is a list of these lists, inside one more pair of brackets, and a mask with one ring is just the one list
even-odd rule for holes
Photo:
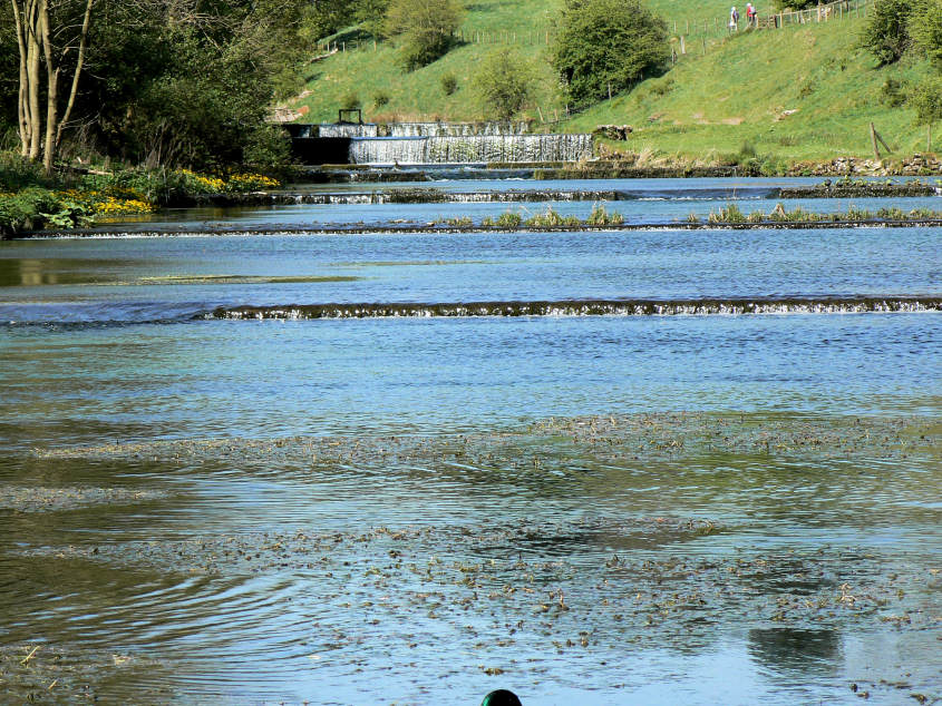
[[[153,166],[272,155],[268,107],[297,90],[309,4],[12,0],[14,16],[0,16],[0,29],[17,30],[13,117],[23,155],[41,156],[47,169],[77,144]],[[9,94],[7,82],[0,89]]]

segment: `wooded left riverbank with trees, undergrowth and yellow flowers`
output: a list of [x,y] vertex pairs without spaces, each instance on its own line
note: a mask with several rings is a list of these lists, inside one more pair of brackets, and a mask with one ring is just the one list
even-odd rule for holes
[[0,232],[84,226],[285,169],[303,0],[13,0],[0,13]]

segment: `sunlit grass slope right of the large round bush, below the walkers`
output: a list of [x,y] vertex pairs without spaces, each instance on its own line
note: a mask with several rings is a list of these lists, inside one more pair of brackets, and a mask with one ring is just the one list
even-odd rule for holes
[[705,160],[754,150],[829,159],[871,156],[873,122],[894,154],[923,151],[925,128],[914,124],[913,110],[887,105],[882,89],[887,78],[919,80],[929,68],[906,61],[875,68],[868,53],[853,48],[863,21],[740,32],[566,127],[628,124],[632,151]]

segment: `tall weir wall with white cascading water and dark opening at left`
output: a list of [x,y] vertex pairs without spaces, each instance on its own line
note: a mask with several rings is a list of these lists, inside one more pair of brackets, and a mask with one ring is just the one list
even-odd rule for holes
[[[397,122],[285,126],[305,164],[428,165],[577,161],[586,134],[530,134],[527,122]],[[346,154],[344,154],[346,153]]]

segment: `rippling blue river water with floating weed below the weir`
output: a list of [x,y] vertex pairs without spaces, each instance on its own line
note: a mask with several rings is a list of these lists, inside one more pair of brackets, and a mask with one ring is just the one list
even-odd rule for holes
[[[767,186],[577,188],[666,223]],[[0,689],[942,697],[942,228],[303,232],[507,207],[0,243]]]

